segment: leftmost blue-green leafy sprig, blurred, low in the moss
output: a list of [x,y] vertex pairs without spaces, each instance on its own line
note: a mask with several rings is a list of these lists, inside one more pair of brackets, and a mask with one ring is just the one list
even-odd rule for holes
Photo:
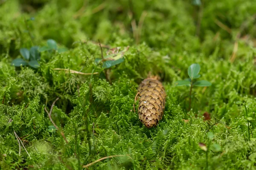
[[38,46],[33,46],[30,49],[20,48],[20,54],[23,58],[16,58],[12,61],[12,65],[20,67],[21,65],[29,65],[32,68],[39,68],[38,61],[40,60],[40,53]]

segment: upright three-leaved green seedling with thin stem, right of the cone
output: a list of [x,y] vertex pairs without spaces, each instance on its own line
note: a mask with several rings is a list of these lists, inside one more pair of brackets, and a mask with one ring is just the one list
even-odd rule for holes
[[175,82],[175,86],[183,86],[183,85],[186,85],[188,87],[190,86],[190,91],[189,91],[189,110],[191,108],[192,88],[194,86],[206,87],[206,86],[212,85],[211,82],[208,82],[206,80],[195,81],[195,79],[198,79],[199,77],[201,77],[201,75],[199,74],[199,71],[200,71],[200,65],[199,64],[192,64],[188,68],[189,78],[185,79],[185,80],[179,80],[179,81]]

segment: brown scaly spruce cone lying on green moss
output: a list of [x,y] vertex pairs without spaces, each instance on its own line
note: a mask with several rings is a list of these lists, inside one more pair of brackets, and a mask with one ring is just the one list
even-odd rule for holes
[[158,124],[163,117],[166,93],[157,77],[144,79],[139,87],[139,119],[146,127],[151,128]]

